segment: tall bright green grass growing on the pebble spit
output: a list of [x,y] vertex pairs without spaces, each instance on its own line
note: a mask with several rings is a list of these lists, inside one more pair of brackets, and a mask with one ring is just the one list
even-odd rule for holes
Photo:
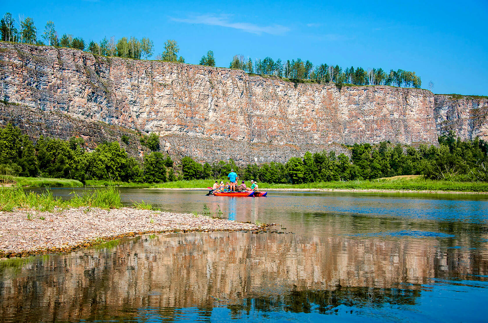
[[[138,207],[140,204],[136,205]],[[141,208],[148,208],[143,204]],[[0,211],[11,212],[14,208],[53,211],[55,208],[99,207],[113,209],[122,207],[120,192],[113,186],[74,194],[68,200],[53,196],[50,190],[42,193],[25,192],[22,188],[0,188]]]

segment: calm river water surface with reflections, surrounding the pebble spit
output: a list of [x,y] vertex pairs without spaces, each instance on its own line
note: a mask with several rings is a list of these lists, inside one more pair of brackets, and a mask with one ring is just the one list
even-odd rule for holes
[[0,261],[0,322],[488,321],[488,196],[205,193],[122,189],[122,200],[205,203],[287,233],[145,235]]

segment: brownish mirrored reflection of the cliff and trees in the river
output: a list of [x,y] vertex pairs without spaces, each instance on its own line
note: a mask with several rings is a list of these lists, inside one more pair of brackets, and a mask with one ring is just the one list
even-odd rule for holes
[[1,263],[0,321],[121,318],[144,308],[172,317],[177,308],[215,303],[235,312],[414,303],[431,278],[488,274],[486,248],[437,245],[436,239],[292,234],[144,236],[112,248]]

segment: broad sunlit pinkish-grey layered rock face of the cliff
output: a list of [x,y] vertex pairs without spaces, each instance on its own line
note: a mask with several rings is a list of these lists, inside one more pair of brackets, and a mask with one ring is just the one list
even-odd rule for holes
[[[440,131],[427,90],[339,90],[68,48],[0,42],[0,82],[5,101],[64,113],[81,124],[156,132],[168,153],[205,161],[283,162],[355,142],[435,143]],[[486,116],[480,124],[474,127],[486,129]]]

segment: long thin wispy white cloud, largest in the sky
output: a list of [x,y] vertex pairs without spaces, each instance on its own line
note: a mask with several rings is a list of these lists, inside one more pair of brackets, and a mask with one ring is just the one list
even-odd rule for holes
[[181,19],[171,17],[170,19],[173,21],[186,23],[200,23],[210,26],[234,28],[256,35],[261,35],[263,33],[271,35],[283,35],[286,32],[290,31],[290,28],[282,25],[274,24],[270,26],[260,26],[254,23],[231,21],[230,18],[230,15],[200,15],[192,18]]

